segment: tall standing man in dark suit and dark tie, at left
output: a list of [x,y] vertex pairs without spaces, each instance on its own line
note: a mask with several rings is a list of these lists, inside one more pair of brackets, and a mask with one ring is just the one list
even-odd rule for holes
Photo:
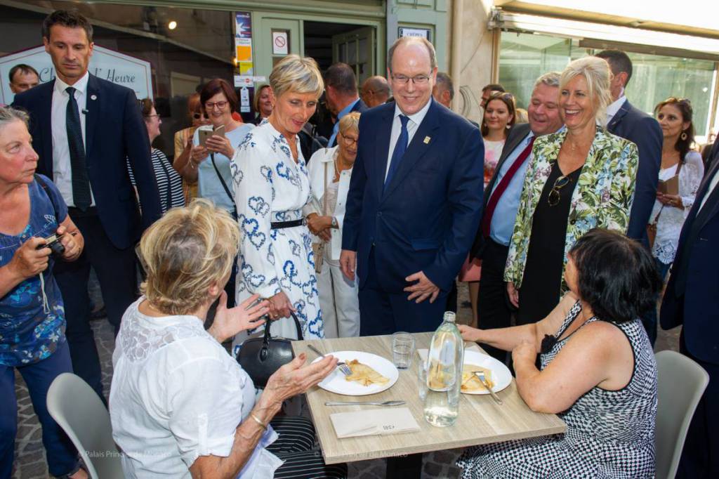
[[[133,245],[142,229],[160,217],[160,197],[134,92],[88,73],[91,24],[80,14],[58,10],[43,22],[42,37],[57,78],[20,93],[14,104],[30,113],[32,146],[40,155],[37,172],[58,186],[85,237],[81,257],[55,265],[55,275],[65,303],[73,370],[103,397],[89,324],[90,267],[117,332],[136,297]],[[142,222],[126,158],[134,171]]]

